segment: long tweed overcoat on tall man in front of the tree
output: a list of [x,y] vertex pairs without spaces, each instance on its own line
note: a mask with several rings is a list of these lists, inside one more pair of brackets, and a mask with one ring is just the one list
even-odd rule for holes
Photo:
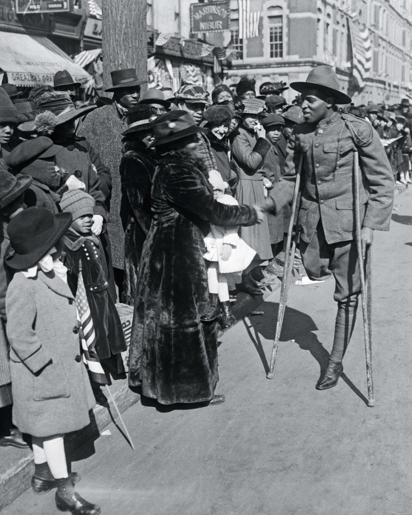
[[122,270],[124,269],[125,231],[120,218],[122,183],[119,166],[122,158],[122,132],[126,129],[126,117],[118,109],[116,102],[88,113],[80,129],[80,135],[88,140],[96,152],[99,153],[101,161],[110,169],[112,192],[107,230],[110,238],[113,266]]

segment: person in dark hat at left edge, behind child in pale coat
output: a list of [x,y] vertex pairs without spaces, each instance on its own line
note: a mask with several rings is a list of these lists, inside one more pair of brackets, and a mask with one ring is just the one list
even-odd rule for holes
[[7,226],[10,219],[23,211],[24,193],[32,179],[28,175],[14,177],[0,169],[0,447],[28,447],[21,432],[12,423],[13,397],[9,343],[6,336],[7,278],[4,256],[10,244]]

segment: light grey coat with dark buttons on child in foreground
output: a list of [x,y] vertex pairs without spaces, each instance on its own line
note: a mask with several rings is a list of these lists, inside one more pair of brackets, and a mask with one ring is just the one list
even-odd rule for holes
[[39,270],[33,278],[16,272],[7,289],[6,313],[13,423],[39,437],[87,426],[95,400],[79,356],[70,288],[53,270]]

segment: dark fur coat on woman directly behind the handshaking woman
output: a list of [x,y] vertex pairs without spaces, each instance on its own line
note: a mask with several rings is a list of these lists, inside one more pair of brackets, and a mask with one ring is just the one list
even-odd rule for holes
[[125,229],[125,277],[122,302],[134,303],[143,244],[151,221],[151,183],[156,154],[140,140],[126,141],[120,162],[121,219]]

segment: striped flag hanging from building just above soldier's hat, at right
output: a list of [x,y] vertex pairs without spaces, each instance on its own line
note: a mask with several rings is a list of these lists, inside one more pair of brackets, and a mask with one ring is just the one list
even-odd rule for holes
[[365,86],[365,79],[370,75],[372,61],[371,40],[367,27],[362,28],[359,23],[348,18],[348,26],[352,43],[352,75],[359,84]]

